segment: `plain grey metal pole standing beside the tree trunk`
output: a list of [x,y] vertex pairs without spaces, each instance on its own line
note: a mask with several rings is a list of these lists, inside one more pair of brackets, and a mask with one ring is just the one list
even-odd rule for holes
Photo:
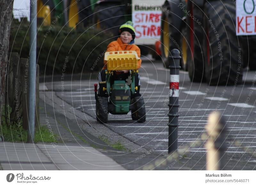
[[34,142],[35,136],[35,106],[36,106],[36,0],[30,0],[29,25],[29,74],[28,74],[28,143]]

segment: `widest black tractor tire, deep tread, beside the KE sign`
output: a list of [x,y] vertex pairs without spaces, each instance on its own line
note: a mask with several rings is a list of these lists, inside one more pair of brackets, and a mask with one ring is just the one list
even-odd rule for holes
[[228,0],[205,2],[204,13],[204,72],[207,83],[241,83],[243,54],[242,43],[236,36],[235,4]]

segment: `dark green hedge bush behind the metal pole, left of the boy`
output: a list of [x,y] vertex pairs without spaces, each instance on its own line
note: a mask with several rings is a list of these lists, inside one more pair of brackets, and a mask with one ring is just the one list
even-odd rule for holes
[[[28,24],[15,22],[11,28],[9,51],[18,52],[20,58],[28,58]],[[72,30],[59,25],[37,28],[40,74],[62,74],[62,70],[65,74],[99,71],[103,66],[102,54],[114,40],[111,38],[110,33],[95,28]]]

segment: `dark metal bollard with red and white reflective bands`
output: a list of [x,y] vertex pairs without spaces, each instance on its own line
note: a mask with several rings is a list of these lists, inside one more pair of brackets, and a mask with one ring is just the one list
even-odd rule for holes
[[179,111],[179,81],[180,81],[180,51],[173,49],[169,57],[170,92],[169,92],[169,136],[168,153],[178,149],[178,111]]

